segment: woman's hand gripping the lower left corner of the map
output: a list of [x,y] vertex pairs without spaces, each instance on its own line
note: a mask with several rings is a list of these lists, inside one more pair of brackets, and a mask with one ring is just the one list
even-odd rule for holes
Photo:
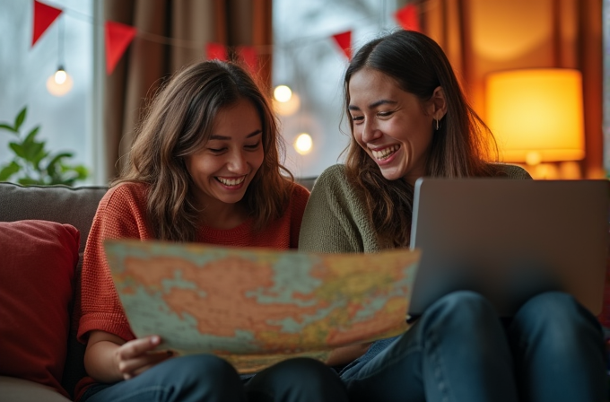
[[161,344],[161,338],[155,335],[134,339],[119,346],[115,352],[115,359],[118,371],[121,372],[123,378],[125,380],[134,378],[173,355],[171,351],[155,350],[159,344]]

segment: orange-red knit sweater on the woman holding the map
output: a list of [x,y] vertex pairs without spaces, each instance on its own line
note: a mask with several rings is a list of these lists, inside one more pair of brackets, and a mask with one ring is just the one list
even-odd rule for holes
[[[88,333],[92,330],[109,332],[126,341],[135,338],[112,282],[103,240],[154,240],[146,217],[147,188],[144,184],[124,183],[110,188],[100,201],[83,257],[81,316],[78,328],[78,338],[83,343],[86,343]],[[252,220],[248,219],[240,226],[228,230],[202,226],[197,232],[197,241],[222,246],[296,249],[308,198],[309,191],[294,184],[285,213],[263,231],[253,232]],[[77,386],[76,395],[80,398],[84,387],[92,382],[90,378],[81,381]]]

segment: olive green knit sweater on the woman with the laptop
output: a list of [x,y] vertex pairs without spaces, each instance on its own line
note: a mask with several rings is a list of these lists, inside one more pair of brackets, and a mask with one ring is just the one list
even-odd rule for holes
[[[509,179],[531,179],[521,167],[503,166]],[[316,180],[301,223],[299,249],[325,253],[380,250],[365,205],[348,183],[343,164],[329,167]]]

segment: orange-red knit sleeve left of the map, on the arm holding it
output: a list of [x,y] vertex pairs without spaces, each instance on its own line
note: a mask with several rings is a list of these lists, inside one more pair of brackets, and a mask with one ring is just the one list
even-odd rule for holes
[[81,316],[78,338],[86,342],[92,330],[101,330],[131,340],[135,336],[118,298],[103,243],[106,239],[152,238],[144,218],[142,185],[123,184],[109,189],[93,218],[83,255]]

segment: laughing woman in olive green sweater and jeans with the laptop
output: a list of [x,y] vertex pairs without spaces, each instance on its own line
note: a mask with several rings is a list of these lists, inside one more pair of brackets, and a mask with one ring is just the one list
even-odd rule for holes
[[[421,33],[364,45],[344,94],[346,161],[319,176],[300,249],[408,247],[422,176],[530,179],[493,162],[489,129],[442,49]],[[538,294],[502,322],[483,296],[463,291],[436,301],[402,336],[338,349],[328,364],[341,367],[353,401],[602,401],[603,347],[597,320],[566,293]]]

